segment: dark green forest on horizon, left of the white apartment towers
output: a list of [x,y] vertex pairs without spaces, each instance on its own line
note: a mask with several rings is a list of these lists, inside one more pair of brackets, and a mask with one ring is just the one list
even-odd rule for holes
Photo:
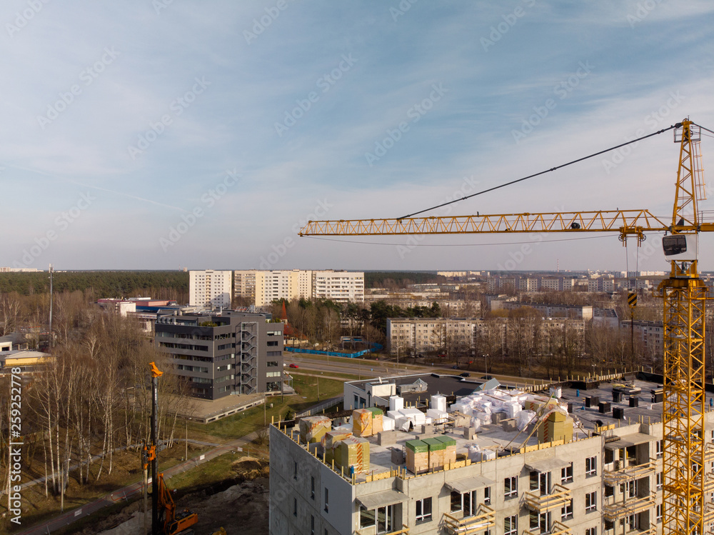
[[[154,297],[188,302],[188,272],[185,271],[67,271],[54,274],[53,289],[89,291],[102,297]],[[0,294],[49,293],[49,273],[0,273]]]

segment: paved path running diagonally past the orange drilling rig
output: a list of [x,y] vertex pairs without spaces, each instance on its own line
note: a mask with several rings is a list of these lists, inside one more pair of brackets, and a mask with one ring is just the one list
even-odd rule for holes
[[[169,479],[171,476],[175,476],[176,474],[182,474],[183,472],[188,471],[199,464],[210,461],[211,459],[215,459],[228,451],[244,451],[244,446],[249,444],[255,438],[256,434],[251,433],[243,436],[241,439],[218,446],[210,451],[207,451],[205,454],[196,456],[193,459],[188,459],[188,461],[184,461],[181,464],[177,464],[176,466],[172,466],[171,468],[164,470],[164,476],[166,479]],[[198,442],[192,440],[189,440],[189,442],[193,442],[194,444],[216,445],[210,442]],[[99,509],[114,505],[119,501],[129,501],[129,498],[136,496],[137,494],[141,494],[142,492],[143,484],[141,481],[127,485],[122,489],[118,489],[110,494],[107,494],[106,496],[102,496],[100,499],[92,501],[90,504],[81,506],[79,509],[66,511],[65,513],[56,516],[54,519],[46,521],[43,524],[38,524],[30,529],[26,529],[25,531],[19,531],[17,535],[51,535],[53,531],[56,531],[64,526],[69,526],[69,524],[72,524],[74,521],[84,518],[85,516],[89,516],[90,514],[99,511]]]

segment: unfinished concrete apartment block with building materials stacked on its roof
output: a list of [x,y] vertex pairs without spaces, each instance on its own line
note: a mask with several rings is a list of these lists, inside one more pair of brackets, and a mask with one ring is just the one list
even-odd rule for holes
[[[270,533],[661,534],[661,379],[353,381],[340,417],[271,427]],[[704,438],[711,471],[714,412]]]

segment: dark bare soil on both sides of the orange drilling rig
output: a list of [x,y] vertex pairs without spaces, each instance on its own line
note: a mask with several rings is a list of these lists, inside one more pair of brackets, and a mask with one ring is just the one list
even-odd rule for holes
[[[196,535],[211,535],[221,527],[228,535],[268,533],[266,461],[243,457],[233,464],[232,472],[220,483],[195,489],[177,500],[176,509],[190,509],[198,514],[198,523],[193,526]],[[136,501],[119,513],[76,531],[76,535],[141,534],[143,512],[141,501]]]

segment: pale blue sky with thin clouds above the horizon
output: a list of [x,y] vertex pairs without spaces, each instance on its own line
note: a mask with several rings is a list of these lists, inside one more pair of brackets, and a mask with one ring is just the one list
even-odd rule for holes
[[[403,216],[685,116],[714,129],[713,14],[664,0],[5,2],[0,266],[625,269],[615,236],[296,229]],[[712,138],[702,152],[707,169]],[[670,132],[613,157],[449,213],[671,212]],[[640,269],[667,269],[640,253]]]

